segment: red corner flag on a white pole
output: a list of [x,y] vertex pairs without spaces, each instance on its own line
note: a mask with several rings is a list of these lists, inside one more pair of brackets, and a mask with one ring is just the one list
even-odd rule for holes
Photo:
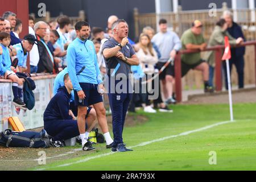
[[228,88],[229,88],[229,109],[230,109],[230,121],[234,121],[233,117],[233,104],[232,104],[232,89],[229,69],[229,59],[231,58],[230,44],[228,36],[225,36],[225,51],[222,60],[226,61],[226,73],[228,75]]

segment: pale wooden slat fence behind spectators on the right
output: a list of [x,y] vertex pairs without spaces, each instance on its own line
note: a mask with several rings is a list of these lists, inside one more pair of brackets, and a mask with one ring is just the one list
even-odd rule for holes
[[[135,35],[138,37],[141,34],[142,29],[146,26],[150,26],[157,30],[156,24],[159,19],[165,18],[168,22],[168,27],[175,31],[177,35],[181,37],[183,32],[191,27],[192,22],[199,19],[203,27],[204,38],[208,41],[214,26],[218,19],[221,18],[223,11],[226,10],[226,6],[222,9],[217,9],[216,16],[210,16],[209,10],[196,10],[196,11],[179,11],[177,13],[161,13],[161,14],[139,14],[138,9],[134,9],[134,20],[135,20]],[[230,10],[232,11],[232,10]],[[255,14],[256,14],[256,10]],[[256,40],[256,23],[251,22],[251,13],[249,9],[242,9],[236,11],[238,16],[237,23],[242,27],[243,33],[245,34],[246,40]],[[202,53],[204,57],[204,53]],[[254,61],[254,46],[246,47],[245,55],[245,84],[255,83],[255,61]],[[232,83],[237,85],[237,73],[234,68],[232,71]],[[201,72],[190,71],[187,76],[183,78],[184,89],[200,89],[203,88],[203,80]]]

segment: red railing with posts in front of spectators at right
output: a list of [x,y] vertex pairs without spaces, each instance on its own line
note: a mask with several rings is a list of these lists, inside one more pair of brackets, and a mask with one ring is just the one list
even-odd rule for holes
[[[232,47],[246,47],[246,46],[254,46],[255,50],[255,85],[256,85],[256,40],[244,42],[239,46]],[[221,62],[222,62],[222,52],[225,46],[213,46],[206,48],[204,51],[215,51],[215,85],[216,91],[222,90],[222,71],[221,71]],[[179,51],[175,57],[175,88],[176,88],[176,98],[177,102],[182,101],[182,86],[181,86],[181,55],[188,53],[197,53],[202,52],[198,50],[182,50]]]

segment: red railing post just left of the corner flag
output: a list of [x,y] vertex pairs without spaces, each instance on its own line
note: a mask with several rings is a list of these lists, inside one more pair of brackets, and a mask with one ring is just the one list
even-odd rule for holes
[[215,51],[215,86],[216,91],[222,90],[222,49],[218,48]]

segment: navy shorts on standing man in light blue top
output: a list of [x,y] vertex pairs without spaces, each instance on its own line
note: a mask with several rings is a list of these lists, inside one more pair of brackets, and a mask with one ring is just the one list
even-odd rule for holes
[[82,91],[84,91],[85,98],[79,100],[77,92],[75,90],[75,105],[76,106],[90,106],[103,102],[102,96],[98,93],[98,84],[79,83]]

